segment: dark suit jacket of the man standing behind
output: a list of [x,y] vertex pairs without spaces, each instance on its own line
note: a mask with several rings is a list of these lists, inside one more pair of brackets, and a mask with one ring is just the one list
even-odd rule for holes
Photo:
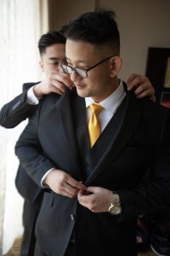
[[[3,106],[0,112],[0,125],[5,128],[14,128],[19,125],[20,122],[26,118],[30,118],[32,113],[37,109],[36,105],[30,105],[26,103],[27,90],[37,83],[23,84],[23,93],[20,96],[16,96],[11,102],[8,102]],[[20,195],[26,200],[35,202],[37,196],[41,193],[41,188],[37,186],[32,178],[23,170],[22,166],[19,166],[18,172],[15,178],[15,185]]]

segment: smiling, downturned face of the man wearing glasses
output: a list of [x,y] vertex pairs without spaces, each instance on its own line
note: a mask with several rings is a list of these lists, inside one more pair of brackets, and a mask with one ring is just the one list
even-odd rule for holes
[[[73,41],[67,39],[66,60],[71,67],[89,68],[99,61],[112,55],[108,48],[99,48],[94,44]],[[91,96],[95,102],[103,101],[111,95],[114,89],[113,70],[114,57],[101,63],[88,72],[88,78],[82,79],[75,72],[71,74],[71,80],[77,87],[77,94],[82,97]]]

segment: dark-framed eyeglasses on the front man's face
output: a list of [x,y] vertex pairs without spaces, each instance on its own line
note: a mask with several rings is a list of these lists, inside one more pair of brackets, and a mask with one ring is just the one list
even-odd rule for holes
[[111,59],[112,57],[114,57],[115,55],[112,55],[110,57],[107,57],[105,58],[103,61],[99,61],[97,64],[95,64],[94,66],[92,67],[89,67],[89,68],[81,68],[81,67],[71,67],[65,63],[61,63],[60,66],[63,70],[64,73],[67,73],[67,74],[71,74],[73,73],[73,71],[79,76],[81,77],[82,79],[87,79],[88,78],[88,71],[90,71],[91,69],[93,69],[94,67],[97,67],[99,66],[99,64],[105,62],[105,61],[108,61],[109,59]]

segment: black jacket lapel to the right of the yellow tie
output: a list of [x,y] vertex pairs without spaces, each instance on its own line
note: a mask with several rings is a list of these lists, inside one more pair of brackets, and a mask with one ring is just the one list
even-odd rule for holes
[[123,100],[116,114],[111,119],[99,141],[92,148],[89,160],[93,172],[86,180],[86,184],[93,182],[95,177],[106,169],[116,155],[126,145],[139,123],[140,108],[131,92]]

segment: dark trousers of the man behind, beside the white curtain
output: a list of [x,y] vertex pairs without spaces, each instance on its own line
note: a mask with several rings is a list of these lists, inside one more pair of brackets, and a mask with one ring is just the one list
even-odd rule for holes
[[35,225],[37,221],[37,216],[40,211],[42,204],[42,194],[37,198],[37,201],[30,203],[29,201],[24,201],[23,207],[23,226],[24,234],[23,240],[20,248],[20,256],[33,256],[36,244],[35,236]]

